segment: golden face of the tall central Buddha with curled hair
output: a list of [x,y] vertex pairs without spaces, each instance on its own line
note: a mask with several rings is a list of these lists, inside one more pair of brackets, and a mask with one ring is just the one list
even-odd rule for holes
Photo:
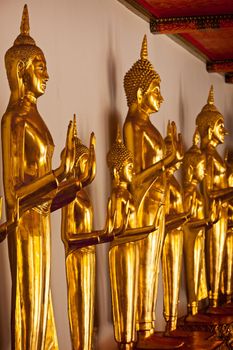
[[141,107],[147,113],[154,113],[159,111],[162,102],[163,97],[160,92],[160,84],[153,80],[146,93],[142,96]]

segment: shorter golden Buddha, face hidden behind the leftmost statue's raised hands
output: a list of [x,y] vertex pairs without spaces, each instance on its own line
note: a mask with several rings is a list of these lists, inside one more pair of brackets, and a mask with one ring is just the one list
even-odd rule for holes
[[[76,129],[76,120],[74,120]],[[95,138],[91,135],[90,148],[84,146],[75,133],[76,159],[70,177],[83,185],[92,182],[96,173]],[[62,240],[66,252],[66,278],[68,287],[68,315],[72,349],[93,349],[93,324],[95,301],[96,256],[95,246],[75,249],[69,242],[82,239],[82,233],[90,233],[93,225],[93,208],[84,188],[76,198],[62,208]],[[84,235],[86,236],[86,235]]]

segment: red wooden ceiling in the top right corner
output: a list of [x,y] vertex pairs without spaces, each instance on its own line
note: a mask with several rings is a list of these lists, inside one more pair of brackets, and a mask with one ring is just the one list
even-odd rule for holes
[[[121,1],[121,0],[120,0]],[[174,23],[178,37],[195,48],[202,58],[216,63],[221,62],[220,72],[232,72],[233,82],[233,0],[124,0],[137,10],[147,14],[148,19],[161,20],[163,33],[164,23]],[[226,16],[228,20],[226,21]],[[208,16],[215,16],[215,28],[208,24]],[[185,17],[186,23],[179,23]],[[205,28],[200,28],[196,21],[201,18],[201,23],[206,23]],[[173,22],[164,22],[171,19]],[[229,19],[230,18],[230,19]],[[178,19],[178,22],[176,20]],[[218,22],[220,19],[220,22]],[[217,22],[215,22],[217,20]],[[190,21],[190,22],[189,22]],[[189,22],[189,27],[186,27]],[[191,23],[191,24],[190,24]],[[172,24],[173,25],[173,24]],[[170,26],[171,27],[171,26]],[[166,27],[166,34],[174,34],[169,26]],[[168,29],[167,29],[168,28]],[[227,62],[227,69],[224,71],[224,62]],[[229,66],[232,62],[232,69]],[[216,65],[215,65],[216,66]]]

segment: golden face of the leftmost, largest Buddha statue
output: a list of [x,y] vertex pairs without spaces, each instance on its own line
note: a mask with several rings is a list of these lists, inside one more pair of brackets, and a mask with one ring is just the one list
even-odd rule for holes
[[31,93],[36,98],[43,95],[48,79],[49,75],[44,56],[39,55],[34,57],[23,74],[25,92]]

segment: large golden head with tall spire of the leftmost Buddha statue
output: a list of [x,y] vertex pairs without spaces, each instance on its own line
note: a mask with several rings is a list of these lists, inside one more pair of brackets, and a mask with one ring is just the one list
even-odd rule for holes
[[44,54],[29,35],[29,30],[28,9],[25,5],[20,34],[5,55],[7,78],[16,101],[26,94],[35,98],[43,95],[49,78]]

